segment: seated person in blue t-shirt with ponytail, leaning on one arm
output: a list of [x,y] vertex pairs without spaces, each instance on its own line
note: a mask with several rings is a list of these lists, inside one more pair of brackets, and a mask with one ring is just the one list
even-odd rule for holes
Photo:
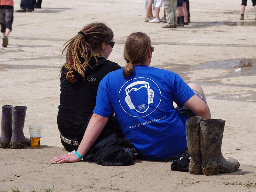
[[187,150],[186,120],[192,116],[211,118],[204,92],[171,71],[149,67],[153,51],[146,34],[128,36],[124,45],[127,65],[100,82],[94,114],[76,153],[57,156],[51,162],[80,161],[113,113],[140,158],[168,160]]

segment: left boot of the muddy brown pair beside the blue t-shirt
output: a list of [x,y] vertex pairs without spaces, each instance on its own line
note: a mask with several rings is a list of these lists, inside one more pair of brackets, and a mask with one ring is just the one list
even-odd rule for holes
[[199,121],[202,119],[200,116],[191,117],[186,121],[186,138],[188,151],[190,154],[190,162],[188,171],[190,174],[201,173],[201,152],[199,144]]

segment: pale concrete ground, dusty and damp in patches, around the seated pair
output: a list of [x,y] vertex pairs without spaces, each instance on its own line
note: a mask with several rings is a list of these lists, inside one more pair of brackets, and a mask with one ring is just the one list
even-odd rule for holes
[[[14,0],[14,10],[20,1]],[[245,20],[240,0],[193,0],[191,23],[165,29],[144,22],[144,1],[44,0],[42,9],[14,13],[7,48],[0,47],[0,105],[28,106],[28,124],[44,124],[39,149],[0,149],[0,191],[256,191],[256,20],[248,1]],[[160,16],[162,16],[161,9]],[[254,20],[253,20],[254,19]],[[125,65],[124,41],[147,33],[155,51],[151,66],[178,73],[204,89],[212,118],[226,120],[223,156],[236,158],[237,172],[215,176],[172,172],[170,163],[136,161],[128,167],[93,163],[50,164],[65,151],[56,123],[62,45],[84,25],[105,22],[116,42],[109,60]],[[235,73],[236,68],[241,72]],[[47,146],[53,147],[47,147]]]

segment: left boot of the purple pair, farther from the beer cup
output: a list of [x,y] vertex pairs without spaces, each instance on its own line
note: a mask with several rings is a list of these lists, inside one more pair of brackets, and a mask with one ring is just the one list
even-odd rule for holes
[[12,105],[2,107],[0,148],[9,148],[12,137]]

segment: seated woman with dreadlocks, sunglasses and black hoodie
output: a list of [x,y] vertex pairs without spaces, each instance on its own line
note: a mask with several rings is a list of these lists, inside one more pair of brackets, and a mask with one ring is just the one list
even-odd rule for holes
[[61,143],[67,151],[78,148],[76,138],[93,113],[101,79],[121,68],[107,60],[115,44],[113,36],[105,24],[92,23],[64,44],[62,54],[66,48],[67,53],[61,68],[57,123]]

